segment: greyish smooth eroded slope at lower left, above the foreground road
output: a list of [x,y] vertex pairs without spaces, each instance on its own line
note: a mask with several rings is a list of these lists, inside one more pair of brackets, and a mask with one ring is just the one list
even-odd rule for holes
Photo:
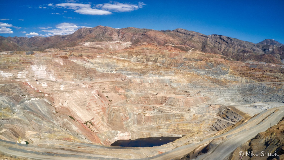
[[[70,136],[72,136],[74,140],[88,142],[84,140],[85,136],[81,134],[76,136],[76,126],[72,126],[70,118],[64,115],[63,117],[58,116],[53,106],[47,101],[46,99],[31,99],[15,106],[11,111],[14,115],[3,115],[1,124],[5,125],[5,129],[1,134],[1,139],[33,142],[40,139],[71,140]],[[16,110],[22,110],[22,112],[16,112]],[[2,108],[1,111],[3,111]],[[66,128],[66,126],[70,127]]]

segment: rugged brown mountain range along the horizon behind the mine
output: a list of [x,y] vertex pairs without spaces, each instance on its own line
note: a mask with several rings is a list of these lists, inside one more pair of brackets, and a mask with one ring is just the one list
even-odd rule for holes
[[222,35],[205,35],[185,29],[151,30],[140,28],[111,28],[96,26],[80,28],[73,34],[51,37],[2,37],[0,51],[44,51],[49,48],[78,46],[81,42],[127,41],[133,46],[143,44],[170,45],[183,51],[196,48],[202,52],[222,54],[238,61],[284,61],[284,44],[266,39],[254,44]]

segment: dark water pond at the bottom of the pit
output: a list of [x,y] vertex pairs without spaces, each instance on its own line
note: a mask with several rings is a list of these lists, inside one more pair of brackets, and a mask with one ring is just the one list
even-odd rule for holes
[[118,140],[112,143],[114,146],[121,147],[154,147],[175,141],[181,137],[150,137],[139,138],[136,140]]

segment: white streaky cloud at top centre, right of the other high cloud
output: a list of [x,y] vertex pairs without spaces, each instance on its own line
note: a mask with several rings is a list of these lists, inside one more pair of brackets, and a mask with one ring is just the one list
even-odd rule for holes
[[145,3],[143,2],[139,2],[137,5],[131,3],[113,2],[113,3],[98,4],[96,5],[96,7],[113,12],[130,12],[133,10],[137,10],[139,8],[143,8],[143,5],[145,5]]

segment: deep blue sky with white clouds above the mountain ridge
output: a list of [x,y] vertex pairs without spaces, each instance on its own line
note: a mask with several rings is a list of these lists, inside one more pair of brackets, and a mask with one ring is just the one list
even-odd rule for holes
[[220,34],[258,43],[284,43],[284,1],[0,1],[0,36],[53,36],[82,27],[174,30]]

